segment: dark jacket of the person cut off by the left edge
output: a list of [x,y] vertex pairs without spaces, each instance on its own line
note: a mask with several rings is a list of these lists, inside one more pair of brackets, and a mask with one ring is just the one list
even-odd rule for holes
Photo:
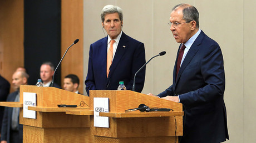
[[[6,101],[10,91],[9,82],[0,75],[0,101]],[[0,106],[0,129],[2,127],[4,106]]]

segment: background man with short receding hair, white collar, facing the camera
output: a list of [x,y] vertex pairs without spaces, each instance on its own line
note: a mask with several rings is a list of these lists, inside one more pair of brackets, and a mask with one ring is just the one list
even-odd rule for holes
[[[44,86],[48,87],[51,85],[54,70],[55,70],[55,67],[51,62],[45,62],[41,65],[40,78],[42,79],[42,83]],[[56,83],[53,83],[53,87],[61,89],[61,86]]]

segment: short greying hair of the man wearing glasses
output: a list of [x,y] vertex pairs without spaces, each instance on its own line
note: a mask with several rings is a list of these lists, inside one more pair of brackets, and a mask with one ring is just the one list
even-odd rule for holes
[[196,9],[194,6],[191,6],[189,4],[180,3],[180,4],[173,7],[173,11],[176,11],[176,9],[178,7],[184,8],[183,11],[182,11],[183,12],[183,19],[186,22],[195,21],[196,22],[196,28],[199,28],[199,12],[198,12],[198,9]]

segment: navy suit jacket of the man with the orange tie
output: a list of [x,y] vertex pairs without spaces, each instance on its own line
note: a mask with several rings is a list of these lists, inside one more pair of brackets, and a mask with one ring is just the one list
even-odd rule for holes
[[[132,90],[134,74],[145,64],[144,44],[123,32],[110,67],[109,78],[107,78],[106,73],[106,59],[107,37],[90,46],[88,73],[85,80],[88,95],[89,90],[116,90],[119,81],[124,81],[127,90]],[[144,81],[145,68],[136,75],[135,91],[142,91]]]

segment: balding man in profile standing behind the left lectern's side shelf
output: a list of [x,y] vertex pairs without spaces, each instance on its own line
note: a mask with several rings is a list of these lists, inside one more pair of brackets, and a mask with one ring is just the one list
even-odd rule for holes
[[[12,84],[14,91],[9,94],[7,101],[19,102],[19,85],[27,84],[28,74],[23,71],[17,71],[12,75]],[[23,126],[19,124],[19,108],[4,108],[1,143],[4,142],[22,142]]]

